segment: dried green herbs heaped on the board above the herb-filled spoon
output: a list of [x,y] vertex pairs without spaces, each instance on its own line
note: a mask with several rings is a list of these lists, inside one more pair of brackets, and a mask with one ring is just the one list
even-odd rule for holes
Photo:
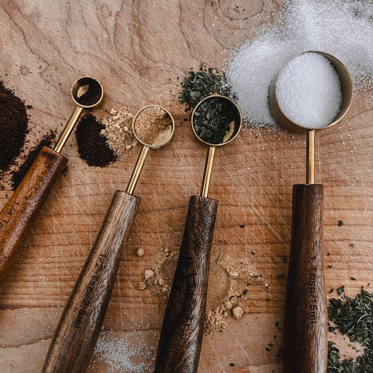
[[189,111],[191,108],[195,108],[199,101],[213,93],[226,96],[228,92],[224,83],[224,74],[219,73],[217,69],[207,68],[204,64],[201,64],[197,73],[191,70],[185,76],[181,83],[183,90],[178,97],[178,101],[187,104],[188,108],[185,111]]

